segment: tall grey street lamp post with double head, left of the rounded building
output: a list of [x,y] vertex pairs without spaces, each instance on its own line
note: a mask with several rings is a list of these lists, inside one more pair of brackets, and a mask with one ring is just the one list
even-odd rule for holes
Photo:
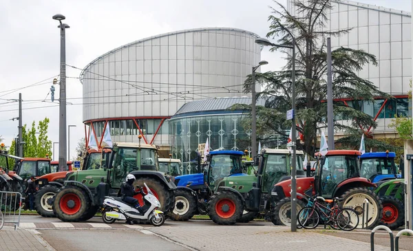
[[59,21],[58,28],[61,30],[61,64],[60,64],[60,96],[59,96],[59,171],[65,171],[67,166],[66,160],[66,34],[65,30],[70,28],[69,25],[62,23],[65,16],[55,14],[52,17]]

